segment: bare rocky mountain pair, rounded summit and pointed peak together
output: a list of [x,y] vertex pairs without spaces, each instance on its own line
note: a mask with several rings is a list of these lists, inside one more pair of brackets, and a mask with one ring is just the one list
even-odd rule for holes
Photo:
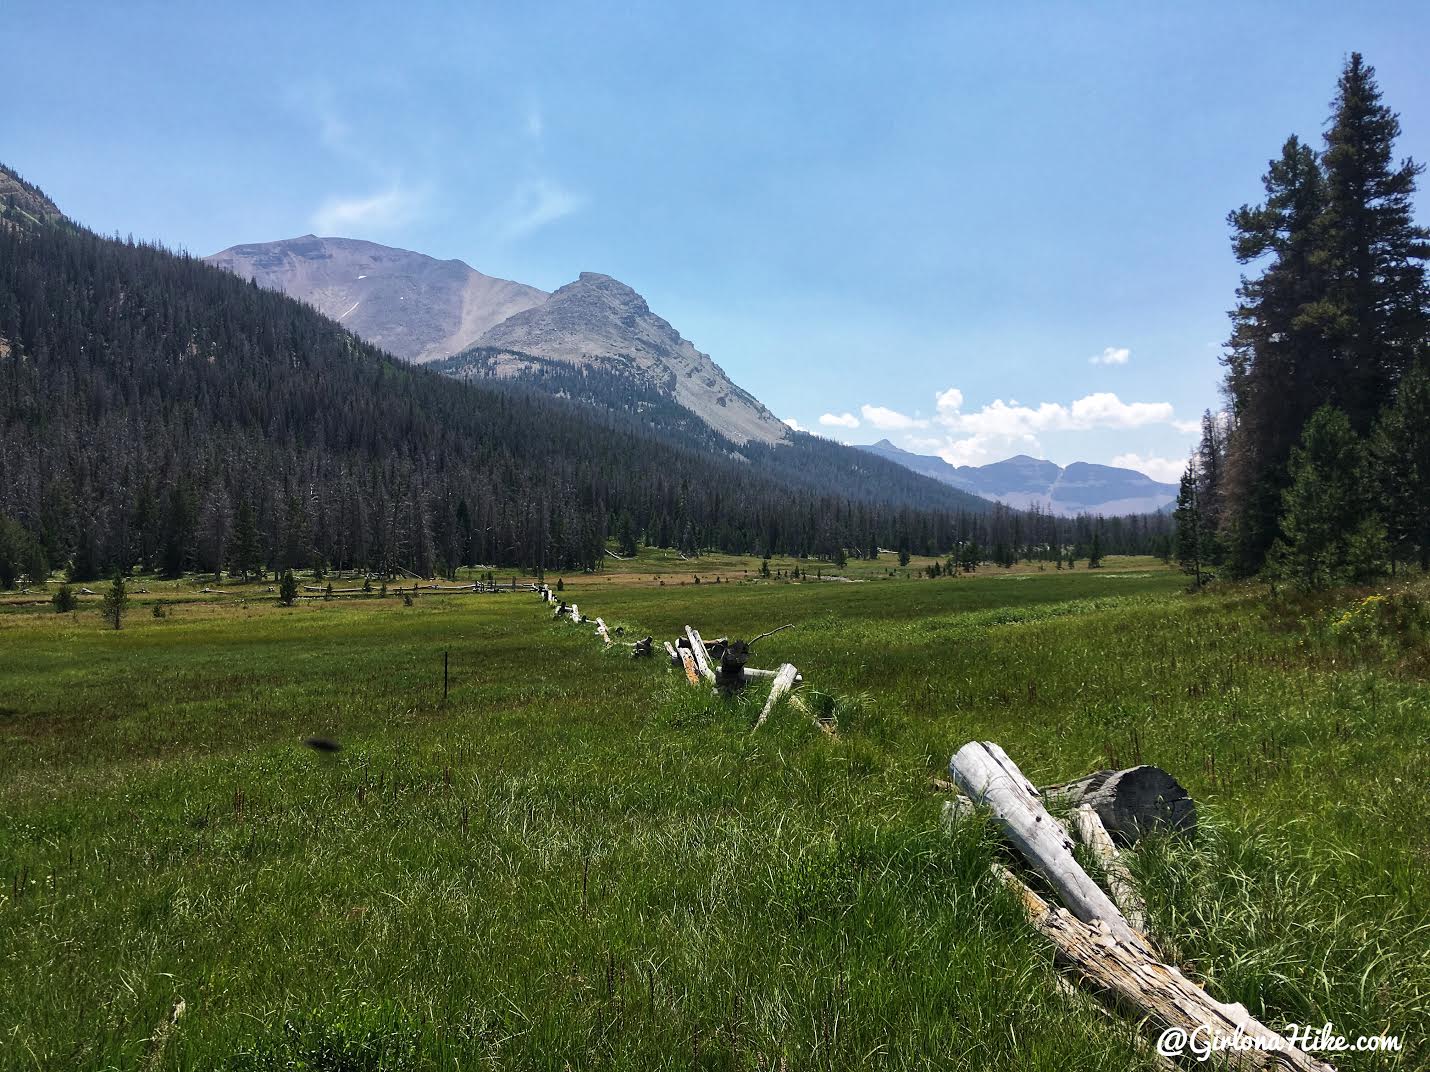
[[[409,362],[480,346],[490,370],[513,377],[522,376],[529,356],[638,372],[732,443],[778,443],[788,436],[758,399],[611,276],[582,272],[548,294],[483,276],[460,260],[313,234],[233,246],[207,260],[309,303]],[[503,363],[499,352],[511,352],[511,360]]]

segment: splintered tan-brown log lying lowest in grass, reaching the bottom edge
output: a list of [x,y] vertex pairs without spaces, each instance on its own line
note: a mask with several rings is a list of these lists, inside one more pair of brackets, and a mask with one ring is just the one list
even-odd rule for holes
[[[1244,1005],[1213,999],[1175,966],[1163,963],[1141,938],[1113,941],[1105,928],[1048,905],[1007,868],[995,863],[994,870],[1022,900],[1034,929],[1052,943],[1060,965],[1134,1009],[1158,1032],[1177,1028],[1187,1032],[1191,1045],[1221,1043],[1216,1053],[1228,1068],[1334,1072],[1254,1019]],[[1195,1053],[1191,1045],[1187,1056]]]

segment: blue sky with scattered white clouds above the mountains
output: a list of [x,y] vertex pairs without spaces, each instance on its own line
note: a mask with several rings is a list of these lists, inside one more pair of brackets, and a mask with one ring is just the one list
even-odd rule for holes
[[954,465],[1175,480],[1226,216],[1350,51],[1430,159],[1423,3],[6,10],[0,160],[99,232],[603,272],[794,426]]

